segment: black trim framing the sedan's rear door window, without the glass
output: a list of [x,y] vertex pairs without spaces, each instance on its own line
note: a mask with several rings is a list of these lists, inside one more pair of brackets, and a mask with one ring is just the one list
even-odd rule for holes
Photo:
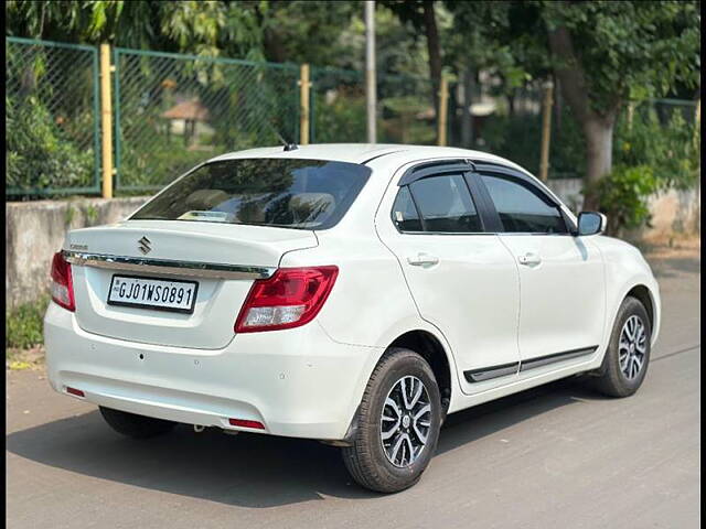
[[[417,216],[419,217],[422,231],[407,231],[407,230],[399,229],[393,216],[394,214],[394,209],[393,209],[389,212],[389,218],[393,223],[393,226],[395,226],[395,229],[397,230],[397,233],[402,235],[445,235],[445,236],[495,235],[494,233],[491,233],[486,229],[485,222],[488,217],[483,212],[486,205],[484,204],[481,205],[479,201],[475,199],[475,197],[473,196],[473,192],[471,190],[471,185],[469,184],[469,181],[470,181],[469,175],[472,174],[474,170],[475,170],[475,164],[471,160],[461,159],[461,160],[437,160],[432,162],[425,162],[419,165],[409,168],[407,171],[405,171],[405,173],[402,175],[402,177],[397,182],[397,187],[398,187],[397,194],[399,194],[399,190],[402,190],[403,187],[407,187],[409,196],[411,197],[411,202],[415,206],[415,210],[417,212]],[[463,182],[466,183],[466,187],[468,188],[468,194],[471,198],[471,204],[473,204],[473,207],[475,208],[475,213],[478,214],[479,220],[481,223],[482,231],[430,231],[430,230],[427,230],[424,215],[421,215],[421,212],[419,210],[419,206],[417,205],[417,199],[415,198],[415,194],[411,191],[410,185],[422,179],[442,176],[445,174],[459,174],[463,179]],[[395,195],[395,201],[396,201],[396,197],[397,195]],[[393,206],[395,205],[395,201],[393,201]]]

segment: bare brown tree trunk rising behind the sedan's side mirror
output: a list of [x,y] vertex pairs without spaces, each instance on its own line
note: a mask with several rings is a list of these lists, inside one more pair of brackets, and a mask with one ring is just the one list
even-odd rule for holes
[[596,186],[612,168],[614,115],[607,118],[591,115],[582,125],[586,138],[586,177],[584,180],[584,209],[600,207]]

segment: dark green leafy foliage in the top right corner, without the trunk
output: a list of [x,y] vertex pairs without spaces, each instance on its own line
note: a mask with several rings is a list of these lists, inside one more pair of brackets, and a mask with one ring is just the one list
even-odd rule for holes
[[566,29],[590,109],[607,114],[628,100],[695,88],[700,72],[700,12],[695,1],[541,3],[547,31]]

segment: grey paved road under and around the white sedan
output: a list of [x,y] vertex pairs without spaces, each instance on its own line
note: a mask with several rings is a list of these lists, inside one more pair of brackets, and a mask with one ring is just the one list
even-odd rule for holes
[[422,481],[393,496],[359,488],[317,442],[126,440],[41,373],[10,373],[8,527],[697,527],[700,260],[655,269],[664,323],[638,395],[559,381],[451,415]]

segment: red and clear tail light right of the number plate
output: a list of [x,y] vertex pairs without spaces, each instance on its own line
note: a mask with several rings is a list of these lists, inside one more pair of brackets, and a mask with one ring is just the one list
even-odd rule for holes
[[236,333],[298,327],[309,323],[327,301],[338,267],[280,268],[258,279],[235,321]]

